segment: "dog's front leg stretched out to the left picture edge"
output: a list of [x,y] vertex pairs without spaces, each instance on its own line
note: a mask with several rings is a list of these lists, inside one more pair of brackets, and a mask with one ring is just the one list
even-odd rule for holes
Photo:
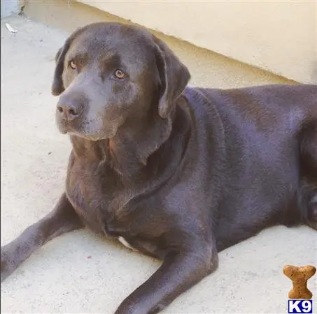
[[47,241],[80,227],[83,227],[83,223],[64,193],[55,209],[47,216],[27,227],[19,237],[1,247],[1,281]]

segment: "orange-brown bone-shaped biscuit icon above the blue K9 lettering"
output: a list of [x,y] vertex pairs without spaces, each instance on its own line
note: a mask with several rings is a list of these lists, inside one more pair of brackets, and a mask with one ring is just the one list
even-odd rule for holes
[[293,281],[293,289],[288,292],[288,297],[290,299],[311,299],[313,294],[307,289],[307,281],[314,276],[315,272],[314,266],[284,266],[283,273]]

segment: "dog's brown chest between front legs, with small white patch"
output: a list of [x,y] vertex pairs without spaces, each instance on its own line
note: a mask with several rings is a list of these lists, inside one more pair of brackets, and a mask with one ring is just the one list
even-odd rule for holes
[[100,174],[70,160],[66,195],[83,223],[128,248],[162,258],[169,219],[157,195],[146,197],[144,188],[123,186],[111,172]]

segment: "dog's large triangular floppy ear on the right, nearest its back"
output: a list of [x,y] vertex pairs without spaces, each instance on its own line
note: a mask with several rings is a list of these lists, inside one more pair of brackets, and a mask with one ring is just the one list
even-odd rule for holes
[[160,74],[160,100],[158,113],[160,117],[167,118],[173,103],[181,95],[190,80],[188,68],[181,63],[162,40],[154,37],[156,44],[156,63]]

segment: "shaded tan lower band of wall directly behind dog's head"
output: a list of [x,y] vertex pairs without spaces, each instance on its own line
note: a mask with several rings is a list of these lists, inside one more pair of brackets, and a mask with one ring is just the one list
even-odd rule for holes
[[[70,33],[87,23],[108,21],[124,22],[119,17],[110,15],[83,3],[59,1],[25,1],[24,13],[34,20],[49,24]],[[293,81],[274,75],[254,66],[224,57],[210,50],[197,47],[183,40],[166,36],[157,31],[155,35],[164,40],[169,47],[188,66],[192,75],[191,85],[215,88],[244,87],[260,84],[293,84]],[[64,38],[61,38],[61,45]],[[56,47],[56,50],[59,47]],[[55,56],[52,56],[54,58]]]

